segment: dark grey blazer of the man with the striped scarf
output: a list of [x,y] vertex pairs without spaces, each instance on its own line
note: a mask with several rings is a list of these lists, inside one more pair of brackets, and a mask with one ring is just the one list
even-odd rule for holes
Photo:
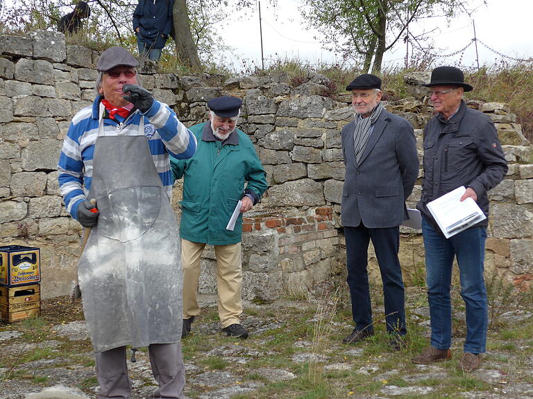
[[383,109],[366,143],[359,166],[353,153],[355,122],[341,131],[346,176],[342,190],[341,223],[371,229],[396,227],[407,219],[405,200],[418,177],[413,127]]

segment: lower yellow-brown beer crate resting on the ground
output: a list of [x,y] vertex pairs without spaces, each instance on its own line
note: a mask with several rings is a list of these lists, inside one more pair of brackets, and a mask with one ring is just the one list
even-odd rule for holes
[[0,286],[0,321],[12,323],[41,314],[40,284],[22,287]]

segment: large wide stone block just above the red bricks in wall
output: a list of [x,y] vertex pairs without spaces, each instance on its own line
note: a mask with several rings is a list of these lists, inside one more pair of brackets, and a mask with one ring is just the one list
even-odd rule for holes
[[322,184],[300,179],[269,188],[270,206],[316,206],[325,204]]

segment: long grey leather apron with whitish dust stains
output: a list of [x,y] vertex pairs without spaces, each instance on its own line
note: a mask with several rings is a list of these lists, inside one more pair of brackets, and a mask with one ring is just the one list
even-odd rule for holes
[[100,118],[88,198],[100,211],[78,261],[95,352],[180,342],[180,238],[141,116],[136,136],[106,136]]

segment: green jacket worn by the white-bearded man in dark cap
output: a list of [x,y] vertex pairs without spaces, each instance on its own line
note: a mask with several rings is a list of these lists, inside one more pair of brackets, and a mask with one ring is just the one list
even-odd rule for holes
[[[231,215],[245,194],[259,202],[267,190],[266,172],[246,133],[235,129],[217,141],[209,122],[189,128],[196,136],[196,154],[171,158],[176,179],[184,177],[181,238],[210,245],[230,245],[242,239],[242,214],[233,231],[226,230]],[[246,186],[245,186],[245,183]]]

